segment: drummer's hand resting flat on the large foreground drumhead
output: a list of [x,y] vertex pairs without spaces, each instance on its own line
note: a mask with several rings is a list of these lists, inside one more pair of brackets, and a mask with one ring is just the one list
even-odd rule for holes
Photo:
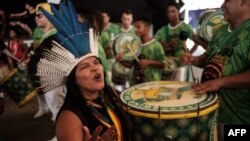
[[222,79],[215,79],[203,82],[201,84],[195,84],[192,86],[192,90],[198,93],[216,92],[223,86]]

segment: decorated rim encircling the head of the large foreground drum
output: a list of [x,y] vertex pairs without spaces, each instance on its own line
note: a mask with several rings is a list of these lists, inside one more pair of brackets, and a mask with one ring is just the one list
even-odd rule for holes
[[[176,83],[182,83],[182,84],[190,84],[189,82],[180,82],[180,81],[151,81],[151,82],[146,82],[146,83],[142,83],[142,84],[139,84],[139,85],[135,85],[135,86],[132,86],[126,90],[124,90],[121,94],[120,94],[120,99],[121,99],[121,102],[124,104],[124,105],[127,105],[126,107],[128,107],[129,109],[133,109],[133,110],[136,110],[138,112],[149,112],[149,113],[154,113],[154,114],[157,114],[159,113],[159,110],[156,110],[156,109],[143,109],[143,108],[140,108],[140,107],[136,107],[135,105],[129,105],[127,103],[127,101],[124,99],[124,95],[127,93],[127,91],[131,91],[133,89],[135,89],[136,87],[141,87],[143,85],[147,85],[150,83],[159,83],[159,84],[176,84]],[[210,107],[211,105],[214,105],[218,100],[218,96],[217,94],[211,94],[211,93],[208,93],[207,94],[207,97],[205,97],[204,100],[198,102],[200,105],[199,109],[200,110],[203,110],[203,109],[206,109],[208,107]],[[168,114],[168,113],[189,113],[189,112],[193,112],[193,111],[196,111],[196,109],[198,108],[198,103],[197,104],[192,104],[192,105],[185,105],[183,107],[189,107],[189,106],[192,106],[192,109],[185,109],[183,108],[182,111],[180,111],[180,108],[178,107],[165,107],[164,110],[160,111],[161,113],[164,113],[164,114]],[[196,106],[197,105],[197,106]],[[159,107],[161,108],[161,107]],[[164,108],[164,107],[163,107]]]

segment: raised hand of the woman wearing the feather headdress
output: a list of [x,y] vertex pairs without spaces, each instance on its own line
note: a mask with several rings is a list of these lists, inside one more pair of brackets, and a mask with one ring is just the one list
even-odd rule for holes
[[103,130],[102,126],[98,126],[93,135],[89,133],[89,129],[87,126],[83,127],[83,140],[84,141],[113,141],[117,140],[117,134],[115,132],[115,128],[112,126],[107,129],[102,135],[101,132]]

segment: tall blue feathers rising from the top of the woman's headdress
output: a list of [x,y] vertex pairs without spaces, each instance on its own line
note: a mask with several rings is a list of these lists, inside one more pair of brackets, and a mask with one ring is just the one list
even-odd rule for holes
[[78,21],[77,13],[70,0],[67,5],[61,2],[59,10],[53,5],[51,15],[44,9],[42,12],[57,29],[56,38],[58,42],[70,51],[76,58],[90,52],[89,26],[87,23]]

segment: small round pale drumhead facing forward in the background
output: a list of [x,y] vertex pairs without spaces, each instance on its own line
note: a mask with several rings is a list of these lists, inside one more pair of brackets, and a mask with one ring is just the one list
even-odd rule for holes
[[[114,54],[122,54],[122,59],[131,61],[134,60],[135,56],[140,54],[140,39],[132,33],[121,33],[114,40]],[[129,49],[132,49],[132,51]]]

